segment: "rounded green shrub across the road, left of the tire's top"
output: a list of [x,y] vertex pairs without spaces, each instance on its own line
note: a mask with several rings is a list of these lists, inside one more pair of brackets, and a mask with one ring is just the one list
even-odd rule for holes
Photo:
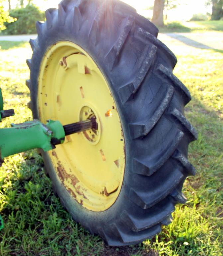
[[9,14],[17,19],[13,23],[5,22],[5,33],[10,35],[36,33],[36,22],[44,20],[44,13],[35,5],[13,9]]

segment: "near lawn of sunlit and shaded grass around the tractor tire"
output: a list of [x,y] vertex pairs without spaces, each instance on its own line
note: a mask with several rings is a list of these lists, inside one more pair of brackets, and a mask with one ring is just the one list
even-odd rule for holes
[[[0,127],[32,118],[26,107],[28,44],[1,42],[0,79],[5,108],[16,115]],[[0,169],[0,255],[220,256],[223,250],[223,54],[170,43],[178,57],[174,73],[186,84],[192,101],[188,119],[199,131],[189,147],[197,169],[187,179],[186,205],[178,205],[173,222],[154,239],[137,246],[109,248],[75,223],[52,192],[36,150],[8,157]],[[208,61],[205,61],[208,60]]]

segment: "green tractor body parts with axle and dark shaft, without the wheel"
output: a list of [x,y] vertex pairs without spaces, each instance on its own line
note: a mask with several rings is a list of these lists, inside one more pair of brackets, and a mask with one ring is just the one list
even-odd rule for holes
[[[3,98],[0,88],[0,122],[2,118],[13,116],[14,114],[13,109],[3,110]],[[11,128],[0,129],[0,166],[7,156],[35,148],[49,151],[54,149],[55,145],[62,144],[65,140],[65,135],[88,129],[96,130],[98,127],[95,117],[64,126],[59,121],[48,120],[47,124],[43,124],[36,119],[21,124],[11,124],[11,126]],[[4,224],[0,215],[0,230],[3,227]]]

